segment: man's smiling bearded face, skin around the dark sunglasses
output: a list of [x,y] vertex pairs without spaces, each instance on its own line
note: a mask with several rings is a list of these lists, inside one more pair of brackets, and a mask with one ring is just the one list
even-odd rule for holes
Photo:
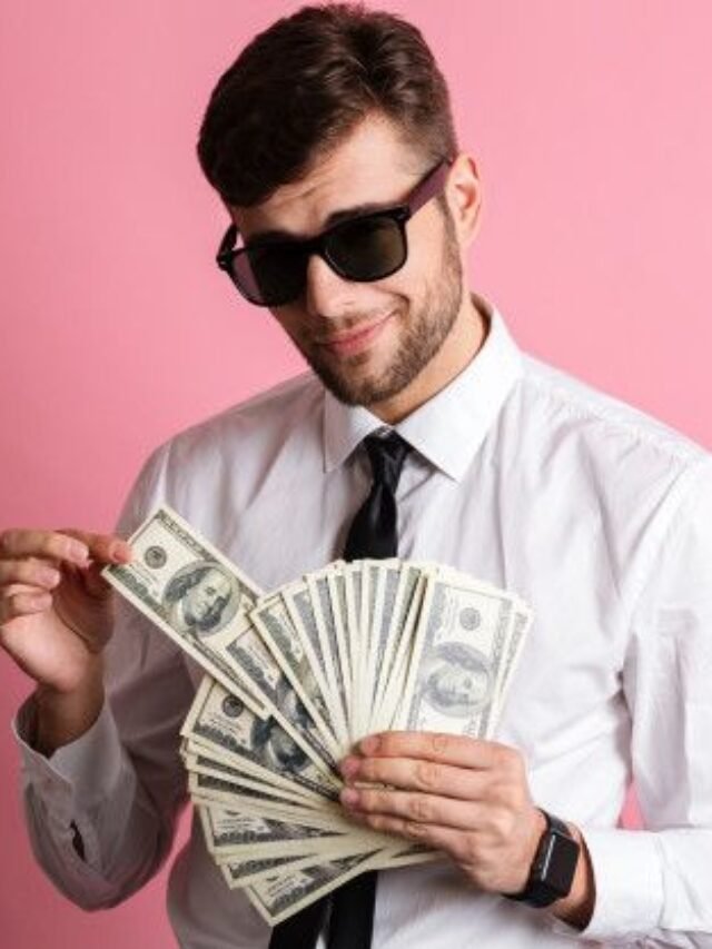
[[[304,180],[233,216],[248,241],[267,230],[310,237],[335,211],[403,201],[428,170],[393,126],[368,118]],[[408,221],[407,240],[403,268],[372,284],[345,280],[312,257],[303,298],[271,310],[342,402],[373,406],[400,393],[432,360],[461,313],[461,247],[437,201]]]

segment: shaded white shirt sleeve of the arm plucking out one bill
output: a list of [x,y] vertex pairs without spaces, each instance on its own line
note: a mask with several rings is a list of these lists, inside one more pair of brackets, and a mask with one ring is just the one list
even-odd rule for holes
[[[121,535],[157,502],[160,468],[156,453],[129,496]],[[95,724],[46,758],[32,748],[32,699],[14,723],[33,852],[58,889],[85,909],[119,902],[157,872],[187,798],[178,743],[194,688],[182,654],[117,600],[105,653],[107,698]]]

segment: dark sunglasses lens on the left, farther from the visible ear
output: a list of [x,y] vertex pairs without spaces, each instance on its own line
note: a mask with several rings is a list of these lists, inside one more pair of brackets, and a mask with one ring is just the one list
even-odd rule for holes
[[281,306],[297,299],[306,279],[306,255],[295,245],[250,247],[235,255],[234,277],[253,303]]

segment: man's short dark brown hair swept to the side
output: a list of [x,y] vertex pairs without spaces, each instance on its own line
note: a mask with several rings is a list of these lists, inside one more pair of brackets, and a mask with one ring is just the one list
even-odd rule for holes
[[416,27],[363,3],[303,7],[220,77],[200,166],[226,204],[249,207],[304,177],[369,112],[395,122],[424,165],[457,152],[447,86]]

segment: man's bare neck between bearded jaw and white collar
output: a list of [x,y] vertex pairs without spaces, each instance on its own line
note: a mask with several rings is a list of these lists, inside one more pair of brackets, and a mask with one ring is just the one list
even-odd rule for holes
[[369,405],[369,412],[387,425],[402,422],[463,372],[479,352],[486,335],[486,317],[469,293],[465,293],[453,328],[427,366],[393,398]]

